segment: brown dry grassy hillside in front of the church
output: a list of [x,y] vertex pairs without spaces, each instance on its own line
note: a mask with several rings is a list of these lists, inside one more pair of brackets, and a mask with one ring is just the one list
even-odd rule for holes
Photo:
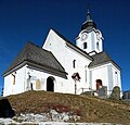
[[17,115],[49,112],[54,109],[81,116],[79,122],[130,123],[130,103],[122,101],[47,91],[27,91],[6,98]]

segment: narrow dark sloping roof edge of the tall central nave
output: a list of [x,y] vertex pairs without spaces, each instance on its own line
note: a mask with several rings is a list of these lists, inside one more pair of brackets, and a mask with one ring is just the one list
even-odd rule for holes
[[83,57],[88,58],[89,60],[92,61],[92,58],[87,53],[86,51],[81,50],[77,46],[75,46],[73,42],[70,42],[67,38],[65,38],[63,35],[61,35],[57,30],[53,29],[53,32],[58,35],[63,40],[66,41],[66,46],[72,48],[73,50],[77,51],[78,53],[82,54]]

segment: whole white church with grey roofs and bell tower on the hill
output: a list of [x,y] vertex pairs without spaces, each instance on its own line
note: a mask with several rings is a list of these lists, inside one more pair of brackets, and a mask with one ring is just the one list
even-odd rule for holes
[[50,29],[43,47],[28,42],[6,68],[3,96],[28,90],[80,95],[102,87],[121,89],[121,70],[103,50],[103,40],[89,11],[76,45]]

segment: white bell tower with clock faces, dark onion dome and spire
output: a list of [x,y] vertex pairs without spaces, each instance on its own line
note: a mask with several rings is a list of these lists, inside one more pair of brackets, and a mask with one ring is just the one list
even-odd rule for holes
[[93,55],[103,51],[103,37],[101,32],[96,28],[96,24],[91,20],[88,10],[87,21],[81,26],[81,32],[76,38],[76,46]]

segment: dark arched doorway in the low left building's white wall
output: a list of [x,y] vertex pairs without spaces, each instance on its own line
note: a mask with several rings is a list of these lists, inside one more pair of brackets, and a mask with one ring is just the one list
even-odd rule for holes
[[54,92],[54,80],[55,78],[50,76],[47,78],[47,91],[53,91]]

